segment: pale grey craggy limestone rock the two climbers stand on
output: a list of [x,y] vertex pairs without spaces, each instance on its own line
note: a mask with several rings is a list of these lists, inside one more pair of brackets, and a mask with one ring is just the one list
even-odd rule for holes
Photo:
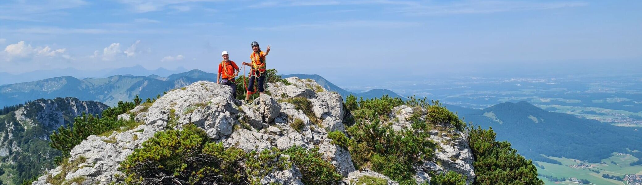
[[[313,80],[297,77],[285,80],[288,85],[269,83],[270,93],[261,94],[250,103],[232,98],[229,86],[213,82],[195,82],[170,91],[152,105],[139,105],[119,116],[119,119],[135,119],[141,125],[124,132],[114,131],[109,136],[87,137],[73,148],[67,163],[49,170],[33,185],[52,184],[49,178],[60,175],[64,175],[68,184],[121,183],[125,176],[119,171],[121,162],[135,149],[142,148],[143,142],[156,132],[168,129],[168,122],[173,118],[177,118],[177,124],[171,125],[173,128],[181,129],[193,123],[214,141],[245,152],[283,150],[291,146],[318,148],[325,161],[343,175],[343,184],[365,184],[360,182],[362,177],[377,177],[385,179],[385,184],[398,184],[372,170],[355,169],[347,148],[334,145],[329,138],[329,132],[346,132],[344,117],[349,115],[340,94],[327,91]],[[294,97],[309,100],[312,112],[304,112],[293,103],[283,101]],[[409,128],[408,118],[413,111],[405,105],[395,107],[390,112],[392,119],[383,124],[391,124],[395,129]],[[427,114],[425,109],[421,111]],[[293,125],[297,125],[294,122],[302,125],[294,128]],[[473,157],[465,134],[457,130],[450,133],[434,130],[430,134],[430,139],[439,147],[433,159],[413,166],[417,183],[429,182],[431,174],[456,172],[465,175],[467,184],[472,184]],[[292,165],[290,169],[268,173],[261,183],[304,184],[301,179],[299,169]]]

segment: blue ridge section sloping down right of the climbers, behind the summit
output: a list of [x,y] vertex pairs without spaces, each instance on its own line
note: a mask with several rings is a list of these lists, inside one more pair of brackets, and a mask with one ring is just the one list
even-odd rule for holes
[[383,95],[388,95],[388,96],[392,96],[392,97],[395,97],[395,98],[401,98],[403,100],[407,99],[406,97],[399,96],[399,94],[394,93],[394,92],[392,92],[392,91],[390,91],[388,89],[372,89],[370,91],[365,91],[363,93],[349,92],[349,91],[346,91],[345,89],[342,89],[341,87],[338,87],[338,86],[332,84],[332,82],[329,82],[328,80],[325,80],[325,78],[323,78],[322,76],[319,76],[319,75],[304,75],[304,74],[281,75],[281,77],[283,77],[283,78],[290,78],[292,76],[297,76],[297,77],[302,78],[302,79],[309,78],[309,79],[315,80],[317,82],[317,84],[323,86],[328,91],[334,91],[336,93],[341,94],[341,96],[343,96],[344,100],[345,100],[345,97],[349,96],[350,94],[352,94],[354,96],[357,96],[357,97],[363,97],[363,98],[381,98],[381,96],[383,96]]

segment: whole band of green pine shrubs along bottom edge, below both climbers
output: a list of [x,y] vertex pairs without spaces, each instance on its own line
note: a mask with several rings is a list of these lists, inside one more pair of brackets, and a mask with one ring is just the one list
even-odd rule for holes
[[[121,163],[128,184],[260,184],[268,173],[295,165],[306,184],[335,184],[343,178],[318,149],[299,146],[261,152],[225,148],[193,124],[157,132]],[[289,156],[289,157],[288,157]]]

